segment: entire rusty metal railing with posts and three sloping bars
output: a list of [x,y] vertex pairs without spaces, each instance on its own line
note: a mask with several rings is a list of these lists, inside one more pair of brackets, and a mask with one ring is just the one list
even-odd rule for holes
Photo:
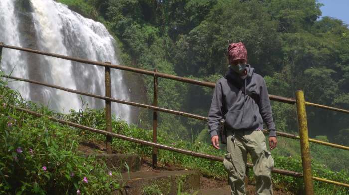
[[[25,82],[30,82],[33,84],[39,84],[39,85],[43,85],[43,86],[47,86],[47,87],[51,87],[51,88],[56,88],[59,90],[68,91],[71,93],[86,95],[86,96],[105,100],[105,102],[106,102],[106,131],[93,129],[90,127],[86,127],[86,126],[82,126],[80,124],[75,124],[75,123],[63,121],[60,119],[55,119],[55,118],[50,118],[50,119],[53,121],[57,121],[59,123],[71,125],[73,127],[78,127],[78,128],[84,129],[84,130],[91,130],[91,131],[94,131],[97,133],[105,134],[107,137],[106,138],[106,148],[107,148],[108,153],[111,153],[111,146],[110,145],[111,145],[112,137],[116,137],[116,138],[120,138],[123,140],[128,140],[128,141],[132,141],[135,143],[139,143],[139,144],[152,146],[153,147],[153,152],[152,152],[153,166],[156,166],[156,164],[157,164],[157,149],[158,148],[170,150],[170,151],[174,151],[174,152],[179,152],[179,153],[183,153],[183,154],[187,154],[187,155],[191,155],[191,156],[196,156],[196,157],[200,157],[200,158],[206,158],[206,159],[217,160],[217,161],[223,160],[222,157],[201,154],[201,153],[197,153],[197,152],[193,152],[193,151],[183,150],[183,149],[179,149],[179,148],[173,148],[173,147],[169,147],[169,146],[165,146],[165,145],[161,145],[161,144],[156,143],[157,142],[157,126],[158,126],[157,111],[171,113],[171,114],[175,114],[175,115],[181,115],[181,116],[190,117],[190,118],[199,119],[199,120],[207,120],[207,117],[203,117],[200,115],[195,115],[195,114],[186,113],[186,112],[182,112],[182,111],[176,111],[176,110],[158,107],[158,105],[157,105],[157,99],[158,99],[158,90],[157,90],[158,81],[157,81],[157,78],[158,77],[167,78],[167,79],[172,79],[172,80],[176,80],[176,81],[180,81],[180,82],[186,82],[186,83],[191,83],[191,84],[210,87],[210,88],[214,88],[215,83],[204,82],[204,81],[174,76],[174,75],[170,75],[170,74],[159,73],[156,70],[149,71],[149,70],[143,70],[143,69],[139,69],[139,68],[123,66],[123,65],[112,65],[109,62],[102,63],[102,62],[98,62],[98,61],[91,61],[91,60],[86,60],[86,59],[81,59],[81,58],[74,58],[74,57],[69,57],[69,56],[64,56],[64,55],[59,55],[59,54],[54,54],[54,53],[47,53],[47,52],[42,52],[42,51],[28,49],[28,48],[21,48],[21,47],[16,47],[16,46],[11,46],[11,45],[5,45],[3,43],[0,43],[0,58],[1,58],[1,54],[2,54],[2,48],[9,48],[9,49],[15,49],[15,50],[20,50],[20,51],[26,51],[26,52],[30,52],[30,53],[36,53],[36,54],[41,54],[41,55],[45,55],[45,56],[52,56],[52,57],[71,60],[71,61],[75,61],[75,62],[105,67],[105,85],[106,85],[106,87],[105,87],[106,88],[106,95],[105,96],[96,95],[96,94],[87,93],[87,92],[81,92],[81,91],[77,91],[77,90],[64,88],[61,86],[46,84],[46,83],[28,80],[28,79],[24,79],[24,78],[18,78],[18,77],[13,77],[13,76],[4,76],[4,77],[15,79],[15,80],[20,80],[20,81],[25,81]],[[140,103],[135,103],[135,102],[130,102],[130,101],[112,98],[111,97],[111,89],[110,89],[111,88],[110,87],[110,79],[111,79],[110,78],[110,68],[126,70],[126,71],[130,71],[130,72],[141,73],[141,74],[146,74],[146,75],[152,75],[154,77],[153,105],[140,104]],[[305,106],[306,105],[307,106],[315,106],[315,107],[329,109],[329,110],[343,112],[343,113],[349,113],[349,110],[306,102],[306,101],[304,101],[304,95],[303,95],[303,92],[301,92],[301,91],[296,92],[296,97],[297,97],[296,99],[293,99],[293,98],[288,98],[288,97],[269,95],[269,98],[271,100],[284,102],[284,103],[288,103],[288,104],[295,104],[295,103],[297,104],[297,116],[298,116],[298,122],[299,122],[300,136],[289,134],[289,133],[284,133],[284,132],[277,132],[277,135],[287,137],[287,138],[301,140],[301,148],[302,148],[301,149],[302,150],[301,156],[302,156],[303,174],[297,173],[294,171],[277,169],[277,168],[274,168],[272,170],[272,172],[283,174],[283,175],[289,175],[289,176],[293,176],[293,177],[303,177],[304,181],[305,181],[305,186],[306,186],[306,195],[313,194],[313,192],[312,192],[313,187],[312,187],[312,181],[311,181],[312,179],[317,180],[317,181],[335,184],[335,185],[340,185],[340,186],[344,186],[344,187],[349,187],[349,184],[336,182],[336,181],[332,181],[332,180],[327,180],[327,179],[323,179],[323,178],[318,178],[318,177],[312,177],[311,165],[310,165],[310,161],[308,161],[308,159],[310,159],[309,142],[308,141],[322,144],[322,145],[331,146],[331,147],[336,147],[336,148],[340,148],[340,149],[345,149],[345,150],[349,150],[349,147],[308,138]],[[303,99],[302,99],[302,97],[303,97]],[[153,143],[112,133],[112,131],[111,131],[111,109],[110,109],[111,102],[117,102],[117,103],[121,103],[121,104],[127,104],[127,105],[152,109],[153,110]],[[33,111],[29,111],[26,109],[22,109],[22,108],[18,108],[18,107],[13,107],[13,108],[25,111],[25,112],[33,114],[35,116],[42,116],[39,113],[35,113]],[[267,130],[263,130],[263,131],[265,133],[267,132]],[[252,165],[248,163],[248,167],[251,167],[251,166]]]

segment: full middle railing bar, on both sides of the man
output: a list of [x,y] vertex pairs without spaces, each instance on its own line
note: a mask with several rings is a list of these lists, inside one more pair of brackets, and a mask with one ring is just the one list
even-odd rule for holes
[[[182,111],[175,111],[175,110],[161,108],[161,107],[156,107],[156,106],[152,106],[152,105],[148,105],[148,104],[140,104],[140,103],[136,103],[136,102],[129,102],[129,101],[125,101],[125,100],[109,98],[109,97],[102,96],[102,95],[96,95],[96,94],[92,94],[92,93],[81,92],[81,91],[77,91],[77,90],[73,90],[73,89],[68,89],[68,88],[65,88],[65,87],[60,87],[60,86],[57,86],[57,85],[46,84],[46,83],[33,81],[33,80],[28,80],[28,79],[23,79],[23,78],[18,78],[18,77],[14,77],[14,76],[3,75],[2,77],[11,78],[11,79],[14,79],[14,80],[25,81],[25,82],[30,82],[30,83],[33,83],[33,84],[43,85],[43,86],[47,86],[47,87],[51,87],[51,88],[55,88],[55,89],[60,89],[60,90],[63,90],[63,91],[76,93],[76,94],[80,94],[80,95],[86,95],[86,96],[90,96],[90,97],[94,97],[94,98],[98,98],[98,99],[110,100],[110,101],[116,102],[116,103],[127,104],[127,105],[131,105],[131,106],[142,107],[142,108],[148,108],[148,109],[153,109],[153,110],[157,110],[157,111],[161,111],[161,112],[166,112],[166,113],[171,113],[171,114],[175,114],[175,115],[186,116],[186,117],[190,117],[190,118],[194,118],[194,119],[206,120],[207,121],[207,117],[203,117],[203,116],[195,115],[195,114],[191,114],[191,113],[186,113],[186,112],[182,112]],[[263,132],[264,133],[268,133],[267,130],[263,130]],[[297,136],[297,135],[289,134],[289,133],[285,133],[285,132],[280,132],[280,131],[276,131],[276,135],[282,136],[282,137],[291,138],[291,139],[299,139],[299,136]],[[328,142],[324,142],[324,141],[320,141],[320,140],[316,140],[316,139],[311,139],[311,138],[309,138],[309,141],[313,142],[313,143],[317,143],[317,144],[327,145],[327,146],[330,146],[330,147],[335,147],[335,148],[340,148],[340,149],[344,149],[344,150],[349,150],[349,147],[343,146],[343,145],[338,145],[338,144],[334,144],[334,143],[328,143]]]

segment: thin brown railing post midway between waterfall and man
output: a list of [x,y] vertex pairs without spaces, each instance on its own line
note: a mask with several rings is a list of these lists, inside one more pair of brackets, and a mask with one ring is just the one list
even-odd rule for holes
[[[153,85],[153,106],[158,106],[158,77],[155,75],[155,73],[158,72],[157,69],[154,70],[154,85]],[[153,111],[153,143],[157,142],[157,136],[158,136],[158,113],[157,111]],[[153,147],[152,152],[152,165],[153,168],[157,166],[158,161],[158,148]]]

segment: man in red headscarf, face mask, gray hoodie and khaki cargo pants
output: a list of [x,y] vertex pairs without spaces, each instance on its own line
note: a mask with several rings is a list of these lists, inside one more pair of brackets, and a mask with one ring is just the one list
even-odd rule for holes
[[271,150],[276,147],[277,140],[267,87],[263,77],[246,64],[247,50],[243,43],[230,44],[227,55],[229,71],[216,83],[208,114],[211,142],[214,148],[220,149],[217,131],[223,122],[227,147],[223,164],[232,195],[246,194],[247,152],[253,162],[257,195],[272,195],[274,160],[265,144],[263,121],[268,127]]

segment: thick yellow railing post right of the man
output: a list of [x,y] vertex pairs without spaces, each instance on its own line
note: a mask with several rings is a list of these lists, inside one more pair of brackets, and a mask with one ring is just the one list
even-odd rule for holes
[[296,92],[297,103],[297,119],[298,130],[301,142],[301,156],[303,167],[303,180],[305,185],[305,194],[314,195],[313,179],[312,179],[312,164],[309,151],[308,140],[308,125],[307,125],[307,113],[305,108],[304,93],[302,90]]

